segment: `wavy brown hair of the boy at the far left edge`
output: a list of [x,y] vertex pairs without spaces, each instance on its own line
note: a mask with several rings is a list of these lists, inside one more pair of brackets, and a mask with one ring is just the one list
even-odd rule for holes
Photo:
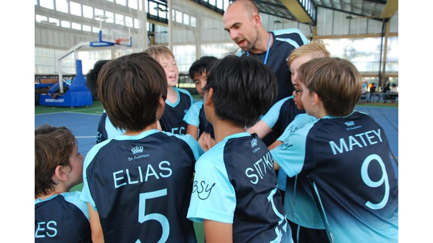
[[54,190],[57,166],[68,166],[76,139],[66,127],[41,125],[35,130],[35,198]]

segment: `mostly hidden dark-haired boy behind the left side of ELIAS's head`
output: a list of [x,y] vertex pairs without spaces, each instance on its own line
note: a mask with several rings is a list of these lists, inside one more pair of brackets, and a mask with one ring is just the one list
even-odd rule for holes
[[[101,68],[105,63],[107,63],[109,60],[99,60],[95,63],[93,66],[93,69],[90,69],[89,72],[86,75],[86,86],[89,88],[90,92],[92,92],[92,95],[96,98],[98,98],[98,90],[96,86],[96,80],[98,78],[98,74],[101,71]],[[99,99],[99,98],[98,98]],[[124,134],[125,131],[119,130],[113,127],[113,124],[111,123],[110,119],[107,117],[107,112],[105,112],[105,109],[103,110],[103,113],[101,115],[101,118],[99,119],[98,124],[98,130],[96,133],[96,143],[99,144],[102,141],[105,141],[109,138],[113,138],[118,135]]]

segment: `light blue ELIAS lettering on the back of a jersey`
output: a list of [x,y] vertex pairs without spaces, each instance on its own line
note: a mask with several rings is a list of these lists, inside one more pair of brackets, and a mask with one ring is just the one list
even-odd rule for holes
[[113,172],[113,183],[114,188],[123,187],[126,185],[132,185],[137,183],[147,182],[150,178],[155,179],[170,177],[173,171],[171,170],[170,162],[161,161],[158,164],[158,172],[153,168],[151,164],[147,165],[147,168],[141,166],[134,169],[121,169]]

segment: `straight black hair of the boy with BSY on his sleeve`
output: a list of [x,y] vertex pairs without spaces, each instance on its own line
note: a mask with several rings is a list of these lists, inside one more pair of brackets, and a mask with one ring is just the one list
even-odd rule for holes
[[252,126],[277,95],[277,80],[266,65],[248,56],[226,56],[207,72],[204,90],[213,89],[215,114],[239,126]]

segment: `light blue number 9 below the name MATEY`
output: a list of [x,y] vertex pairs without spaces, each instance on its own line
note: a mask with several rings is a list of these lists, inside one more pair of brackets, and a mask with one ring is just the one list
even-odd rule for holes
[[[377,161],[377,163],[379,163],[380,168],[382,169],[382,178],[380,178],[376,182],[371,180],[368,172],[369,165],[373,160]],[[383,194],[382,201],[378,204],[373,204],[370,201],[367,201],[367,203],[365,204],[371,209],[381,209],[382,207],[384,207],[387,204],[388,199],[390,197],[390,182],[388,180],[388,174],[385,168],[385,163],[383,163],[383,160],[379,155],[370,154],[369,156],[367,156],[367,158],[365,158],[361,166],[361,178],[362,181],[365,183],[365,185],[369,187],[380,187],[383,184],[385,184],[385,192]]]

